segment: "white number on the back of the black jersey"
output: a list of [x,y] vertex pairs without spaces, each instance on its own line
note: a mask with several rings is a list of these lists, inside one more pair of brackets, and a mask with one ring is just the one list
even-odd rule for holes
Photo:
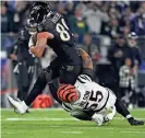
[[69,27],[67,26],[64,19],[61,19],[61,23],[57,23],[56,30],[60,34],[60,38],[68,42],[70,41]]

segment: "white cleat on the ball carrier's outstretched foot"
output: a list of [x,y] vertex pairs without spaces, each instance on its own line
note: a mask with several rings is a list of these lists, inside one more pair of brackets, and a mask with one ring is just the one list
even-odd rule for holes
[[25,114],[28,110],[28,106],[25,104],[24,101],[17,101],[12,99],[11,96],[8,96],[9,102],[14,107],[15,113],[17,114]]

